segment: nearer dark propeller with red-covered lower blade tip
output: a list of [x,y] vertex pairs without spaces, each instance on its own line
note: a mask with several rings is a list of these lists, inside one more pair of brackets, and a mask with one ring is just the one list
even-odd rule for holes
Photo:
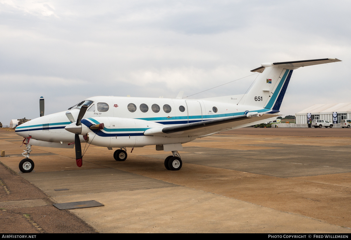
[[[82,133],[82,125],[80,121],[84,117],[85,112],[87,111],[88,106],[83,105],[80,108],[80,111],[78,113],[78,118],[77,122],[75,123],[75,127],[70,127],[69,132],[73,132],[75,134],[74,136],[74,148],[75,148],[75,161],[77,162],[77,166],[81,167],[82,166],[82,148],[80,146],[80,139],[79,139],[79,134]],[[70,122],[74,122],[74,118],[72,113],[66,112],[66,116]],[[66,129],[68,130],[68,128]]]

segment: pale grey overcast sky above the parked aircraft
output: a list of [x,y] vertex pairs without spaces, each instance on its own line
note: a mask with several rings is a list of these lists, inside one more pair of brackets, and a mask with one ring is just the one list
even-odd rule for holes
[[[261,63],[338,58],[294,70],[281,114],[350,100],[351,1],[0,0],[0,121],[65,111],[92,96],[175,98]],[[243,94],[256,76],[190,98]]]

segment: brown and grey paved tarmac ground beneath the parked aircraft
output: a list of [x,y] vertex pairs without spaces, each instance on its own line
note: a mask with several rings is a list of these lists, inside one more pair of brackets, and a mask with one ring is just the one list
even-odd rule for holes
[[[74,149],[32,146],[19,173],[22,139],[0,129],[1,233],[351,232],[351,129],[231,130],[183,144],[179,171],[154,146],[124,162],[90,146],[81,168]],[[52,206],[88,200],[104,206]]]

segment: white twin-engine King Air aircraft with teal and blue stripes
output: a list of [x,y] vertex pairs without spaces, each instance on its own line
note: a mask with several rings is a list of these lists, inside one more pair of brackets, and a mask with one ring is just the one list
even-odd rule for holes
[[[294,69],[339,62],[337,58],[264,63],[252,70],[261,73],[247,94],[204,98],[176,99],[92,97],[68,111],[44,116],[44,98],[40,98],[40,118],[16,127],[25,137],[26,158],[19,163],[22,172],[31,172],[31,146],[73,148],[78,167],[82,165],[81,142],[118,148],[113,157],[127,158],[126,148],[155,145],[156,150],[172,151],[166,157],[168,170],[182,165],[182,143],[221,131],[247,127],[277,117]],[[27,153],[26,155],[24,155]]]

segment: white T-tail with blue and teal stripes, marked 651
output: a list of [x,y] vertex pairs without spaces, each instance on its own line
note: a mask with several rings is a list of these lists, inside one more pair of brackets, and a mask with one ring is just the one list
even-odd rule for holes
[[270,113],[279,112],[280,105],[289,84],[292,71],[304,66],[323,63],[340,62],[337,58],[313,59],[305,61],[263,63],[262,66],[251,70],[261,73],[240,105],[251,105],[267,108]]

